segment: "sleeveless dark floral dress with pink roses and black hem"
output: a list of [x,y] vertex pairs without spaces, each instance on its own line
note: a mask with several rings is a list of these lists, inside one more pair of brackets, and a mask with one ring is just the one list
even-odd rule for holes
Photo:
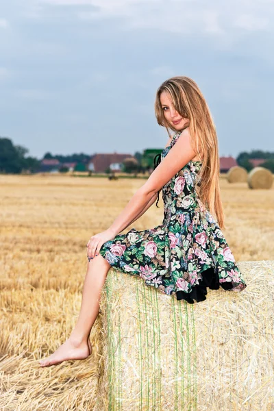
[[[175,133],[158,160],[181,133]],[[99,251],[114,269],[139,275],[147,286],[188,303],[205,300],[207,287],[239,292],[247,286],[218,223],[195,190],[200,168],[200,161],[190,160],[162,187],[160,225],[117,234]]]

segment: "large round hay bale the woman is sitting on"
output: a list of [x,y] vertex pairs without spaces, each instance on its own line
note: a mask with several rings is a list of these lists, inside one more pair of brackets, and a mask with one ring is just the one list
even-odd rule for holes
[[194,304],[110,269],[96,411],[273,409],[274,261],[238,266],[245,290]]

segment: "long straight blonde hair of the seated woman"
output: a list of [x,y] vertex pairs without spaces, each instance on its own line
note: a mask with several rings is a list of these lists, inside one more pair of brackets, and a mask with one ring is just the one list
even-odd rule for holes
[[158,124],[166,128],[170,137],[171,130],[177,132],[177,129],[167,123],[164,118],[160,101],[160,95],[163,91],[169,93],[180,116],[190,122],[190,143],[202,161],[199,170],[200,183],[197,185],[199,198],[217,220],[220,228],[226,228],[219,186],[218,139],[206,99],[195,81],[186,76],[171,77],[158,88],[155,98],[155,116]]

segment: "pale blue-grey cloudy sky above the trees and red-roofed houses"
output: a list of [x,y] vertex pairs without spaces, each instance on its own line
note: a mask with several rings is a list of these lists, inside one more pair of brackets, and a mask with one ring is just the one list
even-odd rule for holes
[[162,148],[155,92],[197,82],[220,155],[274,151],[273,0],[0,0],[0,136],[39,158]]

